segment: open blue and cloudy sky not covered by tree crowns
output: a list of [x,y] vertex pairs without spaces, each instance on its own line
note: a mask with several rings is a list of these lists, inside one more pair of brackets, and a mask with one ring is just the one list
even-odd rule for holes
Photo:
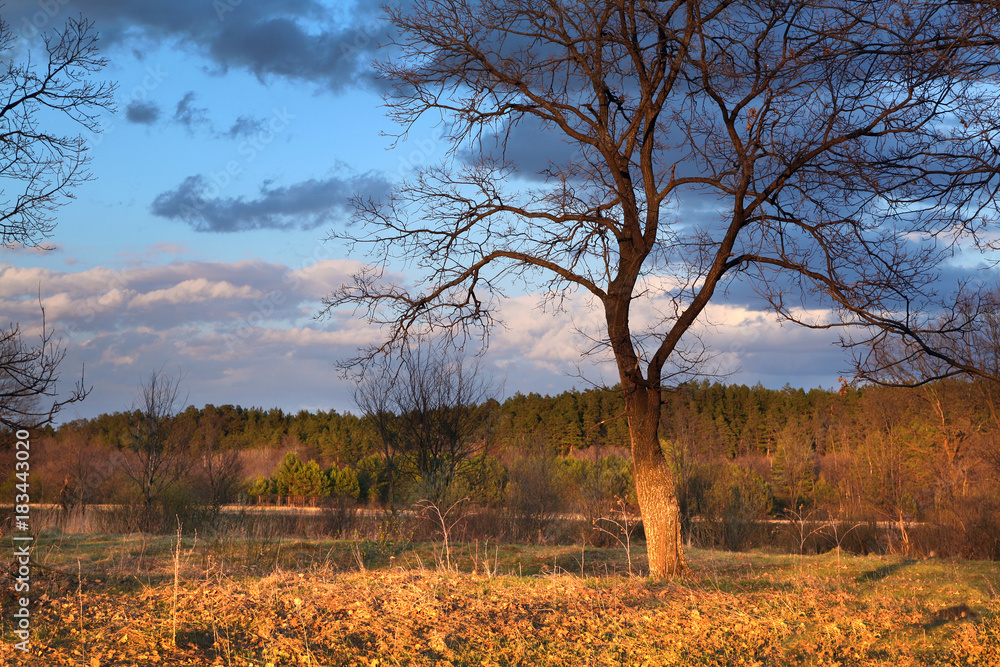
[[[0,249],[0,322],[63,341],[69,388],[93,387],[59,421],[129,409],[152,371],[179,374],[187,404],[356,411],[336,362],[380,332],[321,299],[366,258],[325,241],[352,195],[384,196],[444,157],[418,127],[393,146],[370,67],[387,24],[376,3],[332,0],[7,0],[22,52],[67,18],[91,19],[118,111],[85,135],[93,180],[59,209],[45,249]],[[560,150],[518,147],[526,164]],[[399,269],[405,280],[405,268]],[[485,356],[502,387],[558,393],[614,384],[588,357],[588,299],[561,313],[512,294]],[[830,388],[848,366],[833,335],[782,326],[735,291],[701,334],[726,382]]]

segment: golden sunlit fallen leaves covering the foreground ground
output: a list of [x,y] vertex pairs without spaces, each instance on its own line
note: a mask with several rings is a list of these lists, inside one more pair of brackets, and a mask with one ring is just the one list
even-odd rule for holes
[[[39,600],[25,665],[997,665],[1000,607],[929,632],[926,608],[837,586],[393,571],[91,588]],[[172,626],[176,613],[177,640]]]

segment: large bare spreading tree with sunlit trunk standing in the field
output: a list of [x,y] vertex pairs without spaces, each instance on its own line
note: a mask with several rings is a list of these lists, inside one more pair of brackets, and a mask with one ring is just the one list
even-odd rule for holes
[[[332,238],[362,246],[372,267],[324,312],[360,306],[386,327],[361,363],[417,331],[487,340],[518,279],[556,307],[589,292],[624,393],[653,576],[684,565],[662,390],[697,369],[685,346],[727,286],[752,286],[785,321],[850,327],[846,345],[903,337],[942,354],[934,335],[968,324],[938,280],[959,248],[995,247],[995,3],[414,0],[388,11],[390,115],[404,135],[441,119],[450,159],[384,201],[356,202],[362,224]],[[576,148],[552,157],[544,181],[517,162],[531,131]],[[396,261],[418,287],[387,278]]]

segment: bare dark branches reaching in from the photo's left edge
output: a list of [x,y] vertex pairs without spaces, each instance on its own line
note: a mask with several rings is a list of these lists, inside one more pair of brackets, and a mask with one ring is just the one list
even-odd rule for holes
[[[0,52],[15,53],[15,35],[0,20]],[[94,82],[106,65],[97,34],[83,19],[67,22],[45,39],[41,62],[16,55],[0,65],[0,247],[36,247],[55,228],[55,210],[72,189],[90,176],[83,136],[60,134],[68,119],[90,132],[99,114],[114,106],[114,86]],[[61,117],[61,119],[60,119]],[[82,400],[80,382],[57,398],[57,368],[65,351],[46,326],[42,310],[37,342],[24,339],[20,326],[0,329],[0,424],[35,428],[52,421],[69,403]]]

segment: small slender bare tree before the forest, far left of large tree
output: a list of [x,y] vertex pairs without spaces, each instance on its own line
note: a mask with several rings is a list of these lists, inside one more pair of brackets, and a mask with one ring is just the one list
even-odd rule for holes
[[149,374],[139,387],[128,434],[119,445],[122,472],[139,494],[142,529],[152,526],[154,505],[190,467],[190,449],[173,432],[180,381],[179,375]]

